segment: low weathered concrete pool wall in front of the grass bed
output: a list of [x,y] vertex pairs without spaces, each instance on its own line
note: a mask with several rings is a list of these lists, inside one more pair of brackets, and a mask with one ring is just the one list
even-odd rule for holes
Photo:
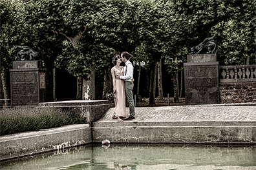
[[77,124],[0,137],[0,160],[29,156],[92,142],[89,124]]

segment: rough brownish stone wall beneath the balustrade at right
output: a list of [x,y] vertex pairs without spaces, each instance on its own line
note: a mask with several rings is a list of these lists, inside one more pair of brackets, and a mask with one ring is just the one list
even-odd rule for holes
[[220,83],[220,103],[256,102],[256,82]]

